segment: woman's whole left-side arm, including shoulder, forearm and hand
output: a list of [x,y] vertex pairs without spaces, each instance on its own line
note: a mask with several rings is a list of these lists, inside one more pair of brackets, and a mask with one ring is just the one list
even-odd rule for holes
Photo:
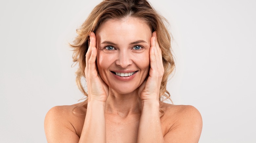
[[104,143],[106,142],[105,101],[109,94],[106,83],[96,71],[96,37],[90,34],[90,45],[86,53],[85,77],[88,88],[88,105],[80,138],[69,122],[63,108],[53,107],[45,118],[47,141],[67,143]]

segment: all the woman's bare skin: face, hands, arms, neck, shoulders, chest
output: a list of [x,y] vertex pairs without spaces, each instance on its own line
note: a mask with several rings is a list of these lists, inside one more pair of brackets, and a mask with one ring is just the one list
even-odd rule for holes
[[[159,101],[161,49],[145,22],[127,18],[102,24],[90,34],[86,65],[88,103],[78,108],[86,114],[73,113],[78,104],[53,107],[45,118],[48,142],[199,141],[198,110]],[[116,75],[128,72],[132,75]]]

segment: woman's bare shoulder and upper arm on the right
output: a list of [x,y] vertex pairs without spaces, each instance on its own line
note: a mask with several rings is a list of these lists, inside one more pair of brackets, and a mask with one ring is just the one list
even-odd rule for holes
[[162,121],[166,126],[164,139],[176,142],[198,142],[202,132],[202,116],[191,105],[160,103],[164,111]]

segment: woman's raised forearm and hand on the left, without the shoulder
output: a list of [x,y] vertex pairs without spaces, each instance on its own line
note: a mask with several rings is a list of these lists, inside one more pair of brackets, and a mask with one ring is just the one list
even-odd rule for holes
[[90,33],[90,45],[86,53],[85,77],[88,88],[88,105],[79,143],[106,142],[105,101],[109,89],[96,71],[96,36]]

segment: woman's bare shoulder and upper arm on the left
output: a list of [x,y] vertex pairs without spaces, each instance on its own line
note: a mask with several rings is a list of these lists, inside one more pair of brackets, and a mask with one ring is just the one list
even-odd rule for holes
[[74,127],[78,117],[73,113],[73,109],[77,105],[55,106],[48,111],[44,121],[47,142],[79,141],[79,136]]

